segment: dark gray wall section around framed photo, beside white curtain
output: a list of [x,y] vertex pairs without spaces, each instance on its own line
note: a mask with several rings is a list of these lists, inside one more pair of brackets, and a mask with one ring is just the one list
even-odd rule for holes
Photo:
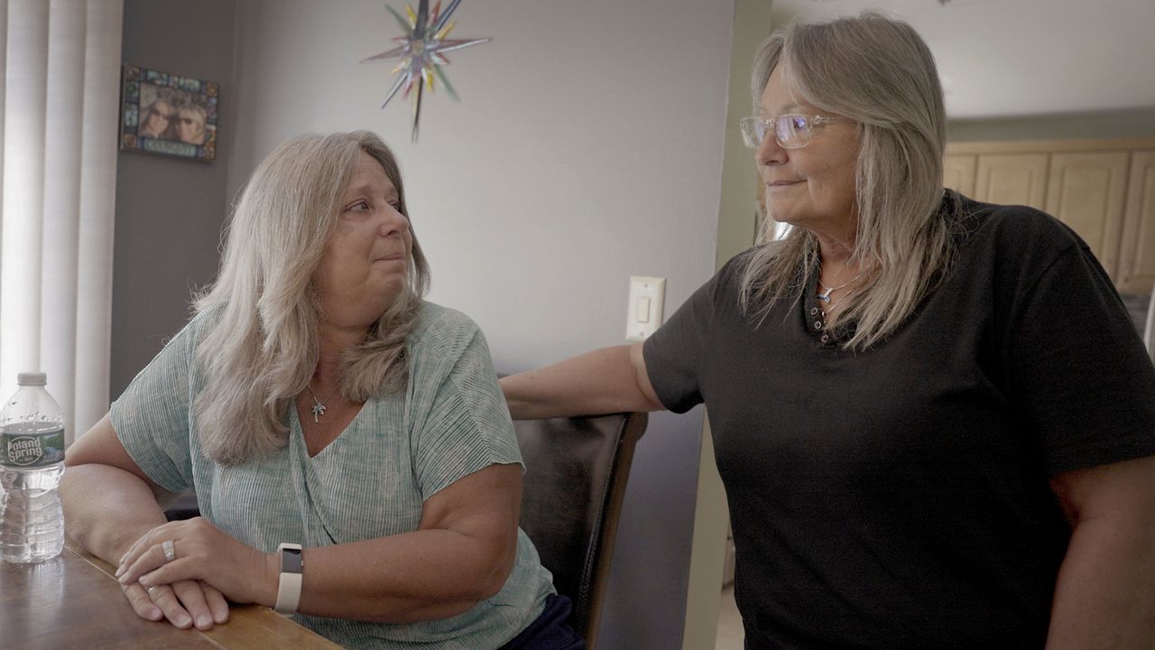
[[188,317],[213,280],[232,149],[236,0],[125,0],[122,60],[221,83],[217,160],[117,155],[111,399]]

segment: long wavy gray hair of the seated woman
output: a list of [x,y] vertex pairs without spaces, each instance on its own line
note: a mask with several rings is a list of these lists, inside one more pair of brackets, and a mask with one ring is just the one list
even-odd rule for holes
[[[196,426],[204,453],[222,465],[288,441],[289,408],[318,363],[316,269],[362,152],[381,163],[408,217],[397,161],[367,131],[286,141],[256,168],[237,202],[216,283],[194,302],[198,312],[214,310],[198,350],[206,383],[194,404]],[[416,234],[408,266],[402,293],[342,357],[340,390],[350,400],[405,386],[405,337],[429,287]]]

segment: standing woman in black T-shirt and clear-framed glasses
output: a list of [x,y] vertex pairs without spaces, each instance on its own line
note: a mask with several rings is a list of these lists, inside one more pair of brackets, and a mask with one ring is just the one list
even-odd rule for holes
[[930,50],[790,24],[742,120],[774,220],[514,418],[709,411],[746,648],[1150,648],[1155,369],[1068,228],[941,186]]

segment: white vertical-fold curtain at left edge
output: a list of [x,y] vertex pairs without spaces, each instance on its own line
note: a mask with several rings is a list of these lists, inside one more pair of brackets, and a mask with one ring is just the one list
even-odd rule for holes
[[0,399],[47,372],[72,442],[109,407],[124,0],[0,8]]

